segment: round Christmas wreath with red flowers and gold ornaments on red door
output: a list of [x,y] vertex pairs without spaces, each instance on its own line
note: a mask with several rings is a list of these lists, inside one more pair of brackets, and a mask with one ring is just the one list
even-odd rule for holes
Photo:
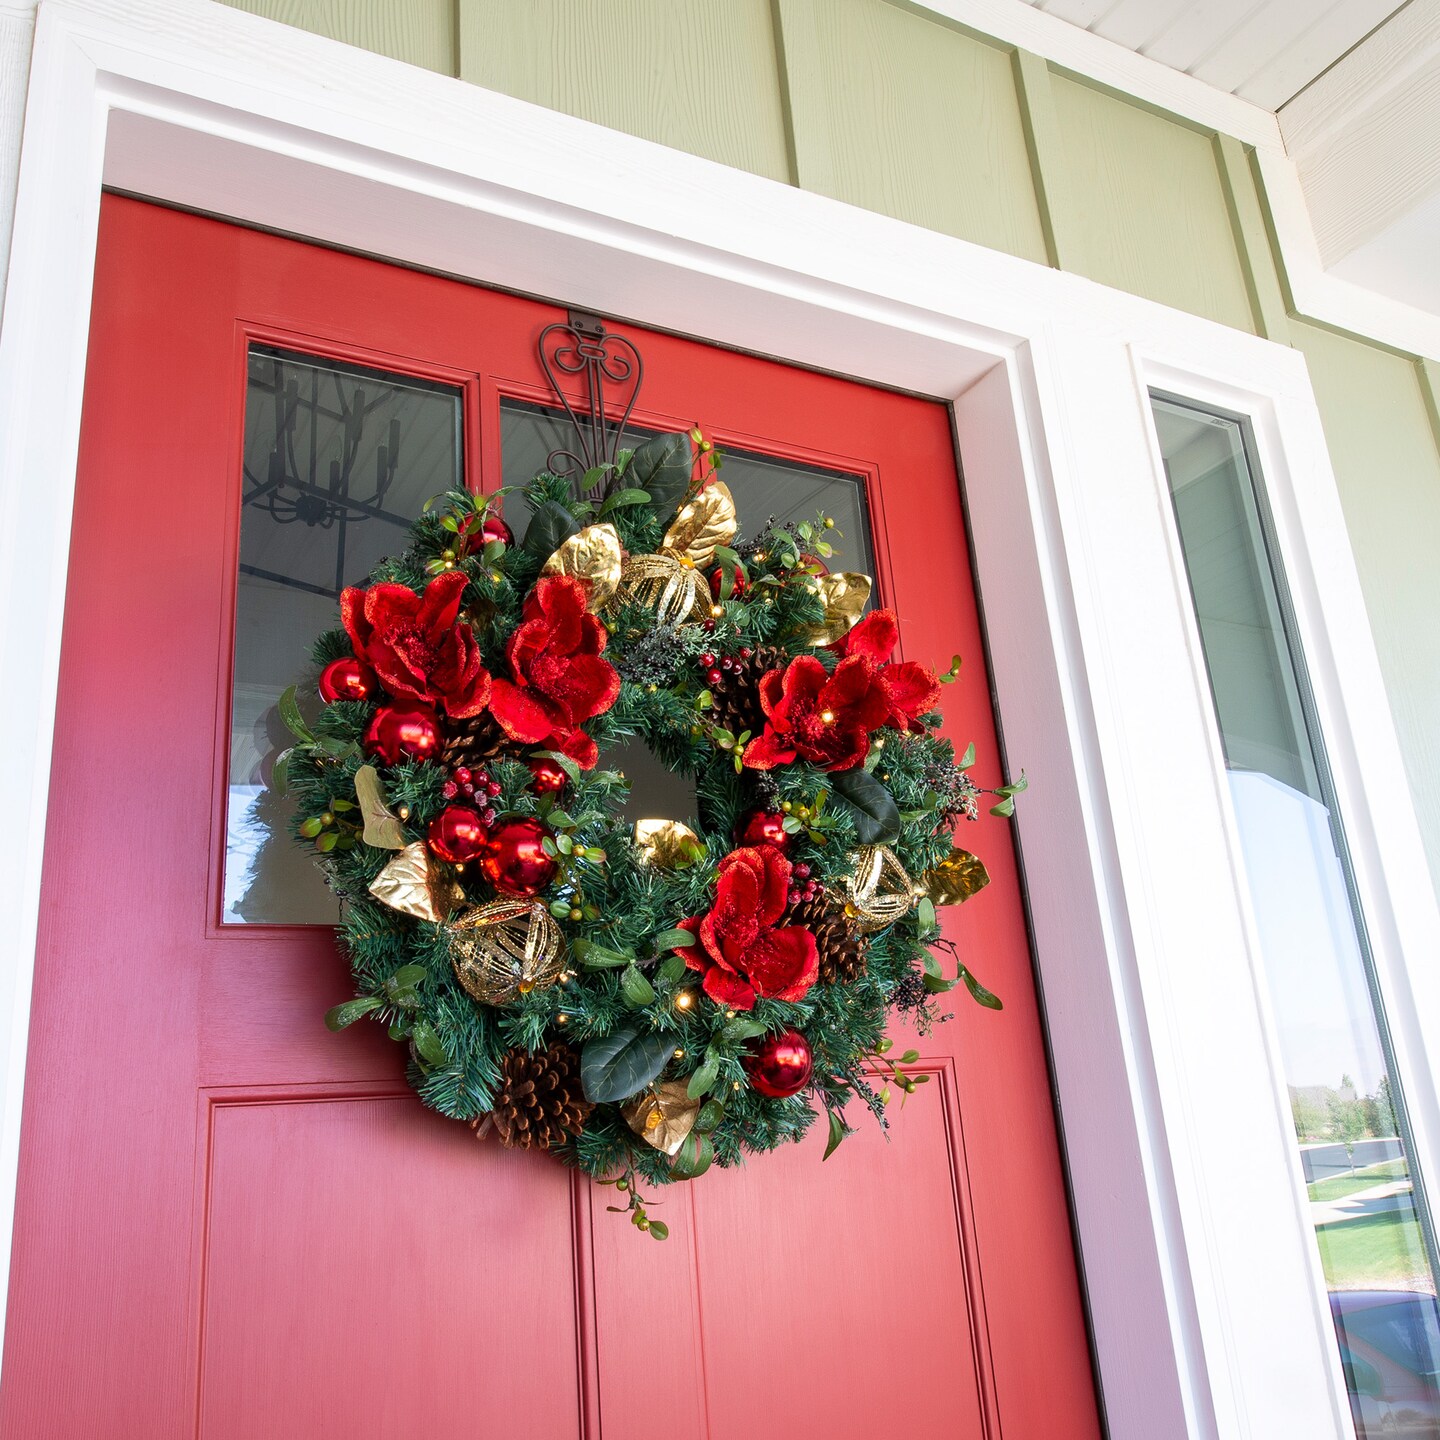
[[[894,660],[832,521],[737,537],[720,454],[665,435],[579,485],[543,474],[516,544],[500,495],[431,503],[344,590],[281,714],[295,835],[341,901],[361,1017],[420,1099],[508,1146],[641,1185],[913,1092],[886,1017],[923,1034],[963,982],[936,906],[986,883],[952,844],[982,792],[936,733],[942,684]],[[691,776],[697,814],[636,819],[606,750]],[[948,956],[942,960],[935,952]]]

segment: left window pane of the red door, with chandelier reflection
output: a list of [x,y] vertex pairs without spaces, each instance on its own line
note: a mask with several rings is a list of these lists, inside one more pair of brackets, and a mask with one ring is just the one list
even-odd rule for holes
[[268,788],[289,744],[275,701],[337,624],[341,588],[405,544],[431,495],[464,484],[461,395],[262,346],[248,363],[222,919],[334,924],[320,871],[289,854],[289,804]]

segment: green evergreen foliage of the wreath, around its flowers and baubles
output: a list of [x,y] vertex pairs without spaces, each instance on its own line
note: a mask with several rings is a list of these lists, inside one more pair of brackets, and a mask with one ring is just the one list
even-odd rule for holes
[[[654,471],[654,456],[648,459]],[[658,475],[657,495],[670,495],[668,504],[658,503],[626,481],[641,461],[622,454],[612,474],[588,477],[579,494],[599,488],[595,500],[579,500],[577,488],[562,477],[537,477],[523,497],[537,518],[513,546],[465,543],[494,497],[439,497],[415,521],[408,549],[382,562],[370,583],[389,582],[420,595],[436,576],[459,572],[465,580],[459,622],[474,634],[485,670],[497,681],[508,677],[511,641],[550,557],[550,540],[608,523],[626,556],[652,554],[677,503],[716,482],[713,472],[700,480],[687,472],[678,482],[674,474]],[[708,464],[714,465],[714,452]],[[520,497],[510,501],[516,516],[523,508]],[[874,815],[867,814],[873,806],[845,798],[860,793],[852,775],[847,779],[804,757],[765,770],[746,765],[746,750],[769,723],[779,684],[766,677],[785,674],[801,655],[819,660],[828,672],[841,662],[837,651],[805,639],[825,621],[816,586],[821,567],[814,557],[828,553],[828,524],[824,517],[811,524],[772,521],[749,540],[721,544],[714,564],[732,582],[740,575],[746,583],[721,586],[729,598],[680,622],[657,624],[645,599],[622,588],[600,612],[609,632],[603,658],[618,672],[618,693],[609,708],[583,724],[599,759],[582,769],[559,752],[544,752],[566,769],[567,785],[559,793],[537,793],[526,763],[544,747],[517,743],[488,710],[461,719],[439,716],[446,744],[442,762],[402,759],[379,768],[384,802],[402,819],[408,842],[425,841],[431,822],[451,804],[454,783],[449,793],[446,785],[456,765],[484,766],[491,788],[498,786],[484,804],[498,816],[527,816],[546,827],[547,852],[560,868],[537,900],[563,932],[567,968],[560,984],[533,989],[510,1005],[478,1004],[459,986],[444,922],[399,913],[370,893],[395,851],[361,838],[356,772],[379,763],[367,755],[364,737],[386,694],[374,703],[328,704],[308,724],[292,697],[281,706],[297,732],[281,783],[295,798],[297,840],[318,852],[343,903],[338,940],[354,978],[356,998],[337,1005],[328,1022],[340,1028],[366,1018],[387,1025],[409,1047],[409,1077],[426,1104],[456,1120],[492,1115],[503,1139],[521,1136],[517,1143],[549,1149],[606,1182],[622,1181],[621,1208],[657,1234],[662,1227],[648,1221],[638,1198],[641,1181],[667,1184],[691,1178],[711,1161],[736,1164],[746,1152],[798,1139],[822,1113],[832,1145],[860,1110],[884,1123],[871,1083],[877,1067],[904,1089],[920,1079],[886,1058],[891,1008],[903,1007],[923,1027],[933,1018],[933,996],[960,981],[982,1004],[998,1005],[963,966],[946,973],[932,955],[939,930],[929,901],[920,900],[865,937],[845,913],[845,881],[863,844],[881,840],[907,874],[919,878],[950,852],[956,822],[976,814],[981,792],[966,775],[971,756],[956,765],[949,742],[932,733],[937,716],[903,727],[877,721],[870,733],[863,766],[854,769],[868,775],[865,793],[878,791],[888,806],[891,819],[878,835]],[[344,629],[328,631],[315,642],[314,661],[324,667],[350,657],[351,649]],[[743,662],[742,651],[747,652]],[[700,662],[707,652],[736,660],[716,693]],[[766,685],[772,688],[762,694]],[[636,737],[667,766],[694,779],[698,812],[672,816],[687,819],[698,837],[688,864],[660,867],[634,842],[626,783],[606,766],[606,749]],[[1002,814],[1018,788],[996,792]],[[812,894],[792,893],[780,923],[814,933],[821,968],[798,998],[760,992],[743,1008],[701,988],[694,962],[703,952],[694,936],[677,927],[714,906],[721,863],[736,850],[736,827],[756,808],[786,816],[789,863],[808,867],[802,873],[814,881]],[[477,867],[465,865],[456,878],[468,904],[495,900]],[[749,1084],[746,1060],[768,1035],[786,1028],[809,1041],[814,1081],[792,1097],[769,1099]],[[652,1060],[636,1093],[678,1080],[698,1106],[696,1130],[677,1156],[647,1145],[621,1103],[593,1103],[580,1090],[588,1043],[628,1035],[634,1045],[626,1063]],[[658,1068],[654,1058],[662,1060]],[[847,1106],[852,1109],[845,1112]]]

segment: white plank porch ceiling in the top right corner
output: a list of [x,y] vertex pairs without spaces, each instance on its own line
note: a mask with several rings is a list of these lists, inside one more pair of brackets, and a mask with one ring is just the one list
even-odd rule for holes
[[1404,0],[1025,0],[1060,20],[1279,109]]

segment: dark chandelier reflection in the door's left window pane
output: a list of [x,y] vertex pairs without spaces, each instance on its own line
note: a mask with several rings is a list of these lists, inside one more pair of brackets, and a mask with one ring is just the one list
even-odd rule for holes
[[[261,478],[249,465],[245,467],[245,498],[242,504],[256,505],[282,526],[297,520],[311,528],[330,530],[336,521],[346,524],[379,517],[405,523],[405,517],[389,514],[384,507],[386,491],[395,481],[400,458],[400,422],[392,419],[389,433],[376,446],[374,482],[369,497],[360,498],[351,491],[354,465],[364,439],[366,420],[370,413],[386,403],[382,395],[366,400],[366,392],[359,377],[340,376],[336,372],[321,373],[318,366],[310,369],[308,395],[301,395],[301,383],[295,374],[285,376],[285,361],[278,356],[266,357],[274,364],[274,382],[266,384],[255,374],[251,356],[251,387],[269,389],[275,402],[275,442],[271,446],[266,474]],[[346,395],[344,380],[350,380],[350,395]],[[327,384],[328,383],[328,384]],[[334,387],[334,402],[321,399],[321,387]],[[297,455],[300,418],[308,419],[308,445]],[[330,425],[338,432],[340,456],[331,458],[325,484],[320,482],[320,428]],[[328,446],[327,446],[328,448]]]

